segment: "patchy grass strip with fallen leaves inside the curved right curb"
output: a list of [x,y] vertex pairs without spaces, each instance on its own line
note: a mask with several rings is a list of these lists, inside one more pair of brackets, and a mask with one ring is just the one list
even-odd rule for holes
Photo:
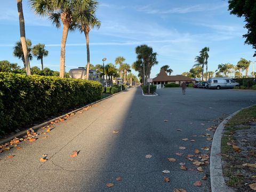
[[239,191],[256,185],[256,106],[240,111],[229,120],[221,141],[223,174],[226,183]]

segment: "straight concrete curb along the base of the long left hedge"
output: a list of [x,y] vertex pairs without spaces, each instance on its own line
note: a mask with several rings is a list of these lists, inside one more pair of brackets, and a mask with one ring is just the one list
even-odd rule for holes
[[[90,104],[88,104],[88,105],[86,105],[86,106],[84,106],[84,107],[81,107],[81,108],[78,108],[78,109],[76,109],[76,110],[70,111],[70,112],[68,112],[68,113],[66,113],[66,114],[64,114],[64,115],[61,115],[61,116],[56,117],[56,118],[53,118],[53,119],[51,119],[50,121],[41,123],[41,124],[39,124],[39,125],[35,125],[35,126],[31,127],[31,129],[33,129],[34,131],[37,131],[37,130],[39,130],[41,127],[44,127],[44,126],[46,126],[46,125],[49,125],[49,124],[51,124],[51,122],[56,121],[56,120],[58,120],[59,118],[65,117],[67,114],[70,115],[70,114],[72,114],[72,113],[76,113],[76,112],[79,111],[79,110],[82,110],[82,109],[84,109],[84,108],[86,108],[86,107],[92,106],[92,105],[94,105],[94,104],[96,104],[96,103],[98,103],[98,102],[101,102],[101,101],[103,101],[103,100],[106,100],[106,99],[108,99],[108,98],[110,98],[110,97],[113,97],[113,96],[115,96],[115,95],[117,95],[117,94],[119,94],[119,93],[122,93],[122,92],[124,92],[124,91],[120,91],[120,92],[115,93],[115,94],[113,94],[113,95],[109,95],[109,96],[106,97],[106,98],[100,99],[100,100],[95,101],[95,102],[92,102],[92,103],[90,103]],[[6,143],[6,142],[10,142],[10,141],[11,141],[13,138],[15,138],[15,137],[16,137],[16,138],[20,138],[20,137],[26,135],[28,130],[29,130],[29,129],[20,131],[19,133],[16,133],[16,134],[12,135],[12,136],[9,137],[9,138],[0,140],[0,145],[4,144],[4,143]]]

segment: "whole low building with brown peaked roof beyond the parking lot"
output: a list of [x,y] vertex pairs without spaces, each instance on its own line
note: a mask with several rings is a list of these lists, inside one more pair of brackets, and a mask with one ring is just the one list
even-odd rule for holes
[[175,84],[181,84],[182,82],[186,83],[195,83],[195,79],[189,78],[183,75],[167,75],[165,73],[165,70],[162,68],[160,70],[160,73],[153,78],[154,85],[157,85],[157,89],[161,89],[164,87],[165,84],[169,83],[175,83]]

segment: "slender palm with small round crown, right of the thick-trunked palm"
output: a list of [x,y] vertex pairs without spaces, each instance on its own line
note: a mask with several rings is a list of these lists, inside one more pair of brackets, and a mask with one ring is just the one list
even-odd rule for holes
[[[82,12],[78,12],[76,15],[76,28],[84,32],[86,39],[86,50],[87,50],[87,66],[86,66],[86,74],[89,74],[90,69],[90,47],[89,47],[89,32],[91,29],[96,27],[100,28],[100,21],[95,17],[95,9],[97,9],[98,2],[94,1],[94,9],[93,10],[82,10]],[[89,76],[86,76],[89,79]]]

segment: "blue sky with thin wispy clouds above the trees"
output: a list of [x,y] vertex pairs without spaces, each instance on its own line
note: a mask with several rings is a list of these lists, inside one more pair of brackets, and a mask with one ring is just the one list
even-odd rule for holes
[[[44,58],[45,67],[59,70],[62,29],[41,18],[23,0],[26,37],[33,45],[44,43],[49,51]],[[163,65],[173,69],[173,75],[189,71],[199,51],[210,47],[209,70],[215,71],[221,63],[236,65],[240,58],[255,61],[254,50],[244,45],[246,33],[243,18],[230,15],[227,1],[222,0],[130,0],[99,1],[97,17],[102,25],[90,32],[91,63],[114,63],[123,56],[130,65],[136,60],[135,47],[147,44],[158,53],[158,65],[151,77]],[[0,60],[22,61],[13,57],[13,46],[19,40],[17,2],[2,0],[0,7]],[[31,66],[40,66],[34,58]],[[86,63],[85,36],[78,31],[68,34],[66,70],[83,67]],[[256,67],[256,65],[255,65]],[[249,72],[252,71],[252,65]],[[135,71],[133,71],[134,74]]]

